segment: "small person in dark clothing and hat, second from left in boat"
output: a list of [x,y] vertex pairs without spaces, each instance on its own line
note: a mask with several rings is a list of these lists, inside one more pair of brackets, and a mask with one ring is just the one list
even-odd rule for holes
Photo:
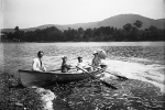
[[62,59],[63,59],[62,73],[67,73],[72,68],[72,66],[67,64],[67,57],[66,56],[62,57]]

